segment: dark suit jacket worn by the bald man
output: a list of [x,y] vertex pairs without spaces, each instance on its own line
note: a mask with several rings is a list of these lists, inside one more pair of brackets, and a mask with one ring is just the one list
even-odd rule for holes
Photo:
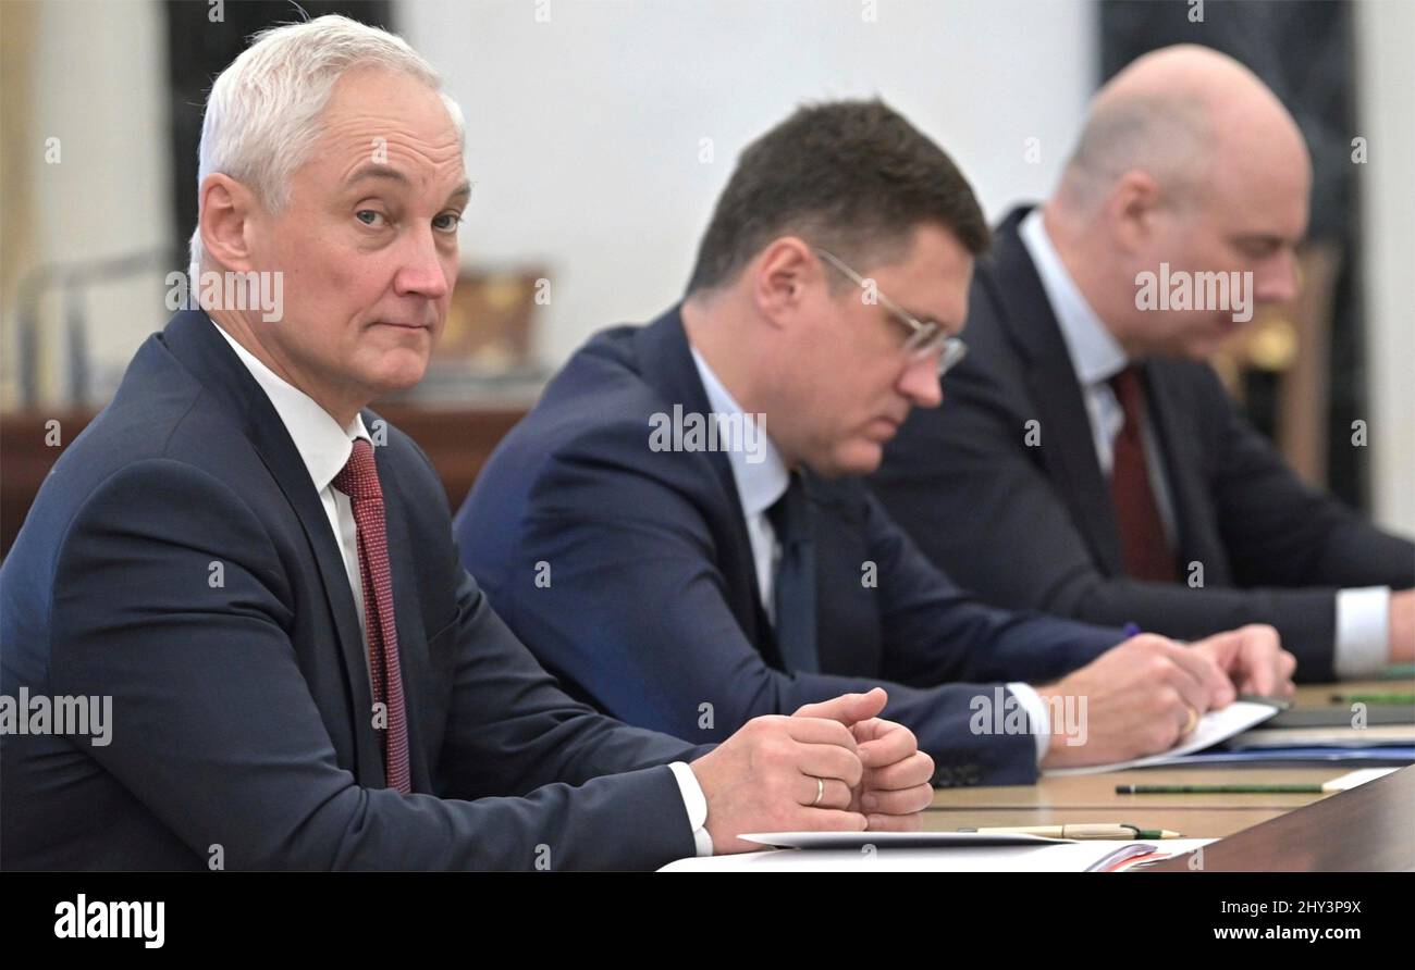
[[884,508],[989,602],[1187,639],[1272,624],[1298,677],[1330,680],[1336,590],[1415,584],[1415,546],[1299,481],[1207,363],[1152,359],[1148,406],[1186,583],[1126,578],[1081,386],[1017,233],[1026,214],[1007,216],[978,263],[971,352],[948,373],[948,400],[910,416],[870,479]]

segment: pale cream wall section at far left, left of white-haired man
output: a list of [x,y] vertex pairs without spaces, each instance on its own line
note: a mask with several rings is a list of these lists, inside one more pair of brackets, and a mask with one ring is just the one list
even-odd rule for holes
[[[0,0],[4,3],[7,0]],[[27,194],[30,230],[4,240],[23,252],[20,274],[37,266],[85,263],[170,245],[166,23],[156,3],[71,0],[34,4],[33,105]],[[58,139],[58,163],[47,146]],[[83,305],[95,392],[110,395],[142,339],[171,315],[163,274],[92,286]],[[44,403],[67,400],[64,298],[48,290],[40,324]],[[4,307],[4,397],[20,375],[14,307]]]

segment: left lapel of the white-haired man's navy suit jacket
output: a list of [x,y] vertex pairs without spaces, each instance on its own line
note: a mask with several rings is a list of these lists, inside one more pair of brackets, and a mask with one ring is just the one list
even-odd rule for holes
[[202,387],[224,402],[238,419],[304,529],[318,564],[338,639],[354,715],[358,779],[362,785],[382,788],[383,755],[372,727],[374,697],[368,682],[368,660],[364,658],[364,636],[344,559],[330,532],[330,520],[314,491],[314,482],[310,481],[310,472],[270,399],[215,331],[215,324],[207,314],[195,310],[177,314],[163,331],[163,339],[201,380]]

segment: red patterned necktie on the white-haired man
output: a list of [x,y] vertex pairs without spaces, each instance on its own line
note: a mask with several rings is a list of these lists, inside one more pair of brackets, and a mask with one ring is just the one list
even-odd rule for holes
[[354,452],[334,477],[334,488],[350,496],[358,525],[358,570],[364,577],[364,636],[374,703],[388,710],[383,731],[383,764],[388,786],[412,792],[408,769],[408,711],[403,674],[398,665],[398,626],[393,622],[393,574],[388,568],[388,533],[383,522],[383,489],[374,465],[374,445],[355,438]]

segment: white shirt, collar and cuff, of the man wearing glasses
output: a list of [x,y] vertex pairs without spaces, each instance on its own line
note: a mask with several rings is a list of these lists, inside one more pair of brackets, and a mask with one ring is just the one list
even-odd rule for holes
[[[722,380],[708,361],[698,352],[696,346],[689,348],[693,355],[693,366],[698,368],[698,378],[703,382],[708,393],[708,407],[712,409],[720,426],[720,441],[732,441],[730,421],[733,416],[743,414],[741,404],[729,393]],[[743,419],[739,419],[743,420]],[[766,431],[766,428],[763,428]],[[775,625],[775,597],[774,587],[777,567],[781,564],[781,543],[775,529],[767,518],[767,509],[777,503],[791,484],[791,471],[787,468],[781,452],[777,451],[770,434],[761,436],[763,451],[760,461],[749,461],[743,448],[727,448],[727,464],[732,467],[732,479],[737,485],[737,499],[741,502],[741,516],[747,523],[747,539],[751,540],[751,561],[757,567],[757,591],[761,594],[761,607]],[[1009,683],[1007,689],[1022,704],[1034,728],[1037,742],[1037,761],[1040,762],[1050,747],[1051,730],[1046,704],[1040,694],[1024,683]]]

